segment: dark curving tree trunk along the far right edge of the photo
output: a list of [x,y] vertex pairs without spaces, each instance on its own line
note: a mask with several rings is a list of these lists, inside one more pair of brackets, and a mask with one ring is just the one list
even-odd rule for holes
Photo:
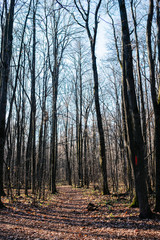
[[[159,1],[157,1],[157,27],[158,27],[158,51],[160,50],[160,10]],[[153,20],[153,0],[149,0],[149,12],[147,20],[147,50],[148,50],[148,63],[150,71],[150,83],[151,83],[151,96],[153,102],[153,109],[155,115],[155,132],[154,132],[154,157],[156,161],[156,206],[155,210],[160,212],[160,88],[159,94],[156,93],[156,83],[155,83],[155,61],[152,53],[152,43],[151,43],[151,28]],[[159,53],[160,54],[160,53]],[[159,57],[159,56],[158,56]],[[160,57],[158,58],[160,59]]]

